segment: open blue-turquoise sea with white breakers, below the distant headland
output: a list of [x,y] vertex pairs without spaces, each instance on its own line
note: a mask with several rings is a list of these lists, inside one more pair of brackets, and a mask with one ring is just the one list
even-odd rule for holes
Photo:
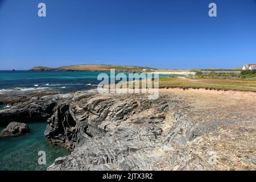
[[0,94],[38,90],[58,90],[65,93],[93,89],[100,82],[97,80],[100,73],[102,72],[0,71]]

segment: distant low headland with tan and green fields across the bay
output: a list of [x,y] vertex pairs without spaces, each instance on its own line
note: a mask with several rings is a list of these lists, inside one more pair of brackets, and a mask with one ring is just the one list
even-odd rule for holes
[[110,69],[115,69],[115,71],[130,71],[130,72],[142,72],[143,69],[149,71],[154,71],[154,68],[149,67],[137,67],[137,66],[126,66],[126,65],[69,65],[59,68],[49,68],[49,67],[34,67],[31,71],[110,71]]

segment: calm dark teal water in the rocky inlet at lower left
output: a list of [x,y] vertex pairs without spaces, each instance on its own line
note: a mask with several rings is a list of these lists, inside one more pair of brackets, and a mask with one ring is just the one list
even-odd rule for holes
[[[52,146],[44,130],[47,122],[28,123],[30,133],[20,137],[0,138],[0,170],[46,170],[54,160],[70,152],[58,146]],[[0,127],[2,130],[4,127]],[[46,165],[38,164],[38,152],[46,152]]]

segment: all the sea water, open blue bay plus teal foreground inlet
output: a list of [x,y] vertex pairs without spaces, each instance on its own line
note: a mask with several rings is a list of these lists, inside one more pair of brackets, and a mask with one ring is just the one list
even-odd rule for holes
[[[101,80],[97,80],[100,73],[110,75],[109,72],[0,71],[0,94],[42,90],[67,93],[94,89],[101,82]],[[0,105],[0,109],[6,109],[6,107],[10,106]],[[70,154],[64,148],[52,146],[44,137],[47,121],[34,121],[27,124],[30,127],[30,133],[19,137],[0,138],[1,171],[46,170],[56,158]],[[5,127],[5,125],[1,125],[0,121],[0,131]],[[46,152],[46,164],[38,163],[39,151]]]

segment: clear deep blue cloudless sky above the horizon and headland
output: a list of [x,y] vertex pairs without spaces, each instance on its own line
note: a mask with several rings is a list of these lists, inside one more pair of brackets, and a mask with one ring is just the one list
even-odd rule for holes
[[[217,18],[208,16],[210,2]],[[256,0],[0,0],[0,69],[243,63],[256,63]]]

